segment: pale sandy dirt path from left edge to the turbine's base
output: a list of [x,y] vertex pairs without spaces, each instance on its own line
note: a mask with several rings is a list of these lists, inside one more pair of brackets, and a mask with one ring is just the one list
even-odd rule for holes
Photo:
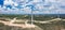
[[27,24],[27,25],[24,25],[24,24],[11,24],[10,21],[3,21],[3,20],[0,20],[0,22],[3,22],[4,25],[8,25],[8,26],[15,26],[15,27],[22,27],[22,28],[35,28],[36,27],[35,25],[30,25],[30,24]]

